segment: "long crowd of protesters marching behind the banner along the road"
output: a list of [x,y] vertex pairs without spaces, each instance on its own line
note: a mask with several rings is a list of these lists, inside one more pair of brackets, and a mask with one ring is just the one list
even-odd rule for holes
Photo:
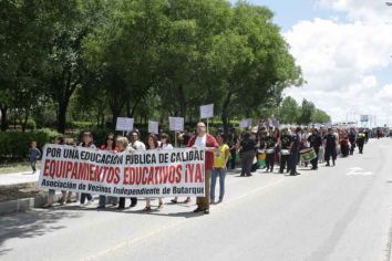
[[[358,147],[359,153],[363,153],[364,144],[368,142],[370,132],[364,128],[332,128],[332,127],[274,127],[268,124],[260,124],[249,127],[245,132],[236,128],[229,129],[226,134],[218,129],[215,135],[208,134],[206,125],[199,122],[196,132],[186,130],[177,133],[179,147],[205,148],[205,197],[197,197],[197,208],[194,212],[209,213],[209,206],[220,203],[225,196],[225,178],[227,169],[236,169],[236,163],[240,161],[240,177],[250,177],[257,169],[265,169],[264,173],[287,174],[298,176],[297,166],[301,165],[317,170],[319,164],[336,166],[338,156],[349,157],[353,155]],[[382,133],[376,133],[376,137],[382,137]],[[162,130],[148,134],[145,143],[140,139],[140,132],[134,129],[126,137],[107,134],[102,146],[94,145],[93,136],[90,132],[82,134],[80,144],[73,146],[87,147],[91,149],[102,149],[110,152],[137,153],[154,149],[173,149],[169,135]],[[64,138],[56,137],[54,144],[63,145]],[[33,171],[35,163],[41,155],[33,142],[30,149],[30,159]],[[239,160],[238,160],[239,159]],[[277,166],[277,168],[275,168]],[[217,180],[219,179],[219,192],[216,197]],[[49,190],[48,203],[45,208],[54,203],[55,191]],[[216,200],[217,198],[217,200]],[[137,198],[106,197],[99,198],[99,209],[104,209],[107,205],[117,207],[118,210],[126,208],[126,199],[130,199],[130,208],[137,206]],[[61,205],[72,202],[72,192],[62,191]],[[80,206],[91,205],[94,200],[90,194],[76,194]],[[189,197],[183,201],[189,203]],[[171,203],[178,203],[178,198],[171,200]],[[158,198],[157,210],[163,209],[164,199]],[[151,198],[145,198],[143,211],[152,211]]]

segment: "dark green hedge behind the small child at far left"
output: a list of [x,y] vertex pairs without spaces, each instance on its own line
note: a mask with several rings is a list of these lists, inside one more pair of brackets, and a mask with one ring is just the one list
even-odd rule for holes
[[59,133],[52,129],[34,132],[2,132],[0,133],[0,159],[24,159],[28,157],[30,143],[37,142],[42,152],[43,146],[50,143]]

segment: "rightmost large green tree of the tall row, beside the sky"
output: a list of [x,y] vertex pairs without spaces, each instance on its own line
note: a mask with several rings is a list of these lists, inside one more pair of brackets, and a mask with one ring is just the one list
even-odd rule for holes
[[[288,52],[272,12],[239,2],[229,28],[217,36],[212,52],[223,97],[221,119],[227,130],[230,107],[240,105],[243,115],[277,106],[282,91],[302,83],[300,67]],[[244,106],[245,105],[245,106]]]

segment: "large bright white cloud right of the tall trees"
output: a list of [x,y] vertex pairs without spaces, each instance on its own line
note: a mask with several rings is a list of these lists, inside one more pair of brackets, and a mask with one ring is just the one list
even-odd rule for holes
[[[316,18],[283,33],[308,82],[303,87],[288,90],[287,95],[312,101],[334,121],[392,109],[392,84],[381,86],[376,77],[392,62],[392,23],[384,21],[386,14],[373,19],[381,9],[375,2],[321,0],[321,7],[345,12],[347,21]],[[392,17],[392,8],[390,12]]]

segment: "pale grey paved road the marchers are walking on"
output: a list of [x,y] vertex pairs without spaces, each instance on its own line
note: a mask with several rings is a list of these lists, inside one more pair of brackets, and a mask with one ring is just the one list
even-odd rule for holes
[[[0,260],[389,260],[392,140],[298,177],[227,178],[209,216],[76,206],[0,218]],[[155,202],[156,203],[156,202]]]

